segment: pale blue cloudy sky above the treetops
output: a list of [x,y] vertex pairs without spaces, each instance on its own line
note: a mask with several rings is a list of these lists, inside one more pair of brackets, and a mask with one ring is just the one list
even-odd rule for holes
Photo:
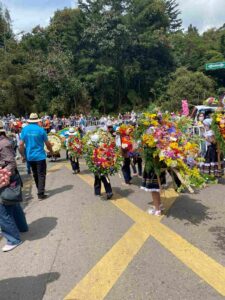
[[[225,0],[177,0],[183,27],[192,23],[202,32],[225,23]],[[30,31],[36,25],[46,26],[54,11],[75,7],[75,0],[0,0],[10,10],[16,33]]]

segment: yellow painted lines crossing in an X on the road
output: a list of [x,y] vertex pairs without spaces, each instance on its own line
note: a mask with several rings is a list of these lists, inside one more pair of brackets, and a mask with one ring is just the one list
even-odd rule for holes
[[[93,186],[94,180],[89,175],[78,175],[87,184]],[[172,205],[176,198],[176,193],[171,189],[166,192],[166,202],[167,199],[167,209]],[[186,241],[180,235],[169,229],[167,226],[160,223],[161,218],[156,218],[149,216],[146,212],[142,211],[140,208],[135,206],[129,200],[119,195],[116,201],[111,201],[115,206],[117,206],[121,211],[123,211],[127,216],[129,216],[136,223],[131,227],[130,230],[125,234],[126,238],[129,237],[131,240],[126,240],[126,243],[135,244],[135,239],[138,239],[141,243],[135,249],[140,249],[148,237],[152,236],[157,240],[164,248],[171,252],[176,258],[178,258],[184,265],[191,269],[195,274],[207,282],[212,288],[214,288],[218,293],[225,296],[225,268],[217,263],[214,259],[209,257],[203,251]],[[118,198],[119,197],[119,198]],[[170,198],[168,198],[170,197]],[[164,199],[165,200],[165,199]],[[136,228],[138,230],[134,230]],[[134,231],[133,231],[134,230]],[[141,238],[142,237],[142,238]],[[118,242],[119,245],[123,245],[123,237]],[[72,292],[65,298],[66,300],[89,300],[89,299],[104,299],[107,293],[110,291],[111,287],[119,279],[120,275],[124,272],[129,262],[133,259],[138,251],[135,249],[131,250],[133,254],[128,257],[128,260],[123,260],[117,265],[115,270],[115,265],[109,264],[108,260],[113,261],[120,259],[122,257],[121,251],[125,248],[117,247],[116,243],[113,246],[113,252],[111,250],[100,260],[99,263],[81,280],[80,283],[72,290]],[[112,257],[111,257],[112,255]],[[112,272],[112,280],[110,279]],[[109,278],[108,278],[109,276]],[[106,278],[106,281],[104,280]],[[96,298],[97,297],[97,298]]]

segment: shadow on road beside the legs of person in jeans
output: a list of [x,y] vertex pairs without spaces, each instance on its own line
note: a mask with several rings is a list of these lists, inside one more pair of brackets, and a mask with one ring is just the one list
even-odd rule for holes
[[[57,218],[45,217],[40,218],[29,224],[29,232],[24,235],[25,240],[34,241],[40,240],[49,235],[49,233],[56,227]],[[1,297],[0,297],[1,299]]]

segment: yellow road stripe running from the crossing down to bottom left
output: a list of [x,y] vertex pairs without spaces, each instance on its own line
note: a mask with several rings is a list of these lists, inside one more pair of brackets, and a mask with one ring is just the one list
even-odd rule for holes
[[148,237],[141,224],[131,226],[65,300],[104,299]]

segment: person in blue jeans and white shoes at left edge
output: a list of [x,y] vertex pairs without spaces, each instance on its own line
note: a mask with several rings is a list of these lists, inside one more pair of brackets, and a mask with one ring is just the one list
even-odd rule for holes
[[[15,177],[19,176],[14,150],[10,140],[6,137],[3,123],[0,122],[0,195],[6,187],[15,184]],[[22,198],[21,198],[22,200]],[[8,252],[19,246],[22,241],[20,232],[27,232],[28,225],[22,207],[19,203],[8,202],[0,196],[0,227],[1,234],[7,240],[2,248]]]

